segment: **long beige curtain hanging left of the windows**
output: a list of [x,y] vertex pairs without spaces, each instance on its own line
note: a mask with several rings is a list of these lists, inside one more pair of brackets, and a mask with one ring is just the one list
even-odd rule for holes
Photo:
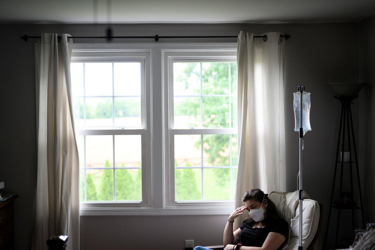
[[53,235],[80,248],[79,161],[71,100],[68,34],[42,34],[36,45],[37,190],[32,249]]

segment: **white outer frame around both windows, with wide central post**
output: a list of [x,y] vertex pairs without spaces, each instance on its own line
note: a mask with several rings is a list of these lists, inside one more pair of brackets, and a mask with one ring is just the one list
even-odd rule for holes
[[[94,58],[112,58],[133,55],[145,60],[145,155],[142,158],[142,189],[146,184],[147,199],[144,204],[124,202],[84,202],[80,204],[81,216],[103,215],[218,215],[230,214],[233,202],[203,202],[202,204],[169,203],[169,111],[168,111],[168,56],[189,52],[192,55],[212,56],[212,52],[222,55],[237,55],[237,43],[75,43],[72,61]],[[133,53],[133,54],[132,54]],[[137,57],[137,59],[140,59]],[[166,105],[165,105],[166,102]],[[160,116],[161,115],[161,116]],[[127,131],[127,132],[130,132]],[[87,132],[89,133],[89,132]],[[122,132],[124,133],[124,132]],[[155,153],[154,153],[155,151]],[[174,165],[173,165],[174,167]],[[144,171],[146,172],[144,174]],[[146,180],[143,180],[143,177]],[[167,195],[168,194],[168,195]],[[142,196],[143,198],[143,196]]]

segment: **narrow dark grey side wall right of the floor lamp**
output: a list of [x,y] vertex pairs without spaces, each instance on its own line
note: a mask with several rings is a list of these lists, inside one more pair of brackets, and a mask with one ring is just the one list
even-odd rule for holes
[[360,102],[360,146],[365,168],[366,222],[375,222],[375,16],[359,23],[359,81],[366,82]]

